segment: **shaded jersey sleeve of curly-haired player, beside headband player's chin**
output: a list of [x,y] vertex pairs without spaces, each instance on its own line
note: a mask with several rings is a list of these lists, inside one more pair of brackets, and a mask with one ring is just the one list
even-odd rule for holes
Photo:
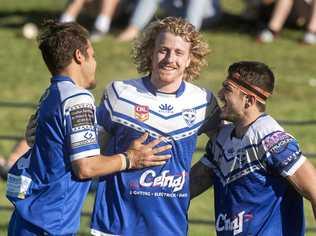
[[216,131],[220,125],[220,108],[213,93],[208,93],[208,106],[205,113],[205,120],[198,131],[198,134]]

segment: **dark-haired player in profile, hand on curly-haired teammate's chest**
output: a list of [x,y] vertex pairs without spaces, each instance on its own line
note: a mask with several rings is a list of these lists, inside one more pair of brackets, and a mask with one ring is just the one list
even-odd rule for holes
[[10,169],[7,197],[14,205],[9,236],[76,235],[90,178],[164,164],[170,148],[147,145],[148,135],[121,153],[100,155],[94,97],[96,60],[86,29],[47,21],[39,49],[52,74],[38,104],[34,144]]

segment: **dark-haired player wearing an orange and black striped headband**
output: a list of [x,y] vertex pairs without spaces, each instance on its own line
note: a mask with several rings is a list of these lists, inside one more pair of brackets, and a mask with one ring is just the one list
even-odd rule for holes
[[265,113],[274,75],[232,64],[218,97],[224,125],[190,173],[191,199],[214,186],[217,235],[304,235],[303,198],[316,217],[316,170],[293,136]]

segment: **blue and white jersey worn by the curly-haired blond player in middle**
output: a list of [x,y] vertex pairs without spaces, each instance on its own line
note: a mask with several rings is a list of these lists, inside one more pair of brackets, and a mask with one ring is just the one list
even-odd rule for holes
[[175,94],[157,92],[149,77],[110,84],[97,109],[98,124],[112,136],[107,154],[125,151],[146,131],[149,141],[164,136],[172,157],[163,166],[100,179],[92,234],[186,235],[197,133],[206,118],[217,126],[216,111],[213,94],[190,83],[182,82]]

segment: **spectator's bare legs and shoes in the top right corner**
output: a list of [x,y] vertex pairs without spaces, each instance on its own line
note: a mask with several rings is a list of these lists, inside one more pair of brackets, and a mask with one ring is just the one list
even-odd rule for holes
[[[295,7],[301,7],[308,4],[310,15],[304,16],[307,19],[306,32],[302,39],[305,44],[316,44],[316,0],[278,0],[273,9],[271,19],[267,28],[257,35],[257,41],[262,43],[271,43],[282,30],[291,10]],[[306,14],[308,14],[306,12]]]

